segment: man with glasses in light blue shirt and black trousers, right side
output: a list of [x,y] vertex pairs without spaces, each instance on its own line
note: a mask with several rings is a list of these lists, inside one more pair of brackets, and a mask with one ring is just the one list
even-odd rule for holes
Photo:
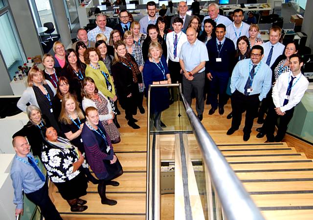
[[271,86],[271,69],[262,62],[263,47],[254,45],[251,49],[251,58],[241,60],[235,66],[231,80],[230,91],[233,118],[227,135],[232,135],[239,129],[242,112],[246,110],[244,140],[250,138],[253,120],[262,101]]

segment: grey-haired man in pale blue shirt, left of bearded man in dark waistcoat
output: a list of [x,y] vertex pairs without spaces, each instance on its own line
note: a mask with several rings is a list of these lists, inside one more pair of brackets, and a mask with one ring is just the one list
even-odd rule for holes
[[97,26],[88,32],[88,40],[96,41],[96,36],[100,33],[104,34],[107,39],[110,39],[110,34],[112,32],[111,27],[107,27],[107,16],[105,14],[97,14],[96,15],[96,24]]

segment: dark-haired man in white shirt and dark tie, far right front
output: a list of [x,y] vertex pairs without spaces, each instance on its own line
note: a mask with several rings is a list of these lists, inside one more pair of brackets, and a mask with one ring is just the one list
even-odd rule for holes
[[[303,61],[299,55],[291,55],[289,60],[291,71],[282,73],[273,87],[272,101],[262,127],[262,131],[266,132],[266,142],[280,142],[283,140],[288,123],[293,116],[294,107],[301,101],[308,88],[309,81],[301,73],[302,65]],[[275,125],[278,118],[278,130],[274,137]],[[262,135],[264,136],[260,132],[257,138],[262,138]]]

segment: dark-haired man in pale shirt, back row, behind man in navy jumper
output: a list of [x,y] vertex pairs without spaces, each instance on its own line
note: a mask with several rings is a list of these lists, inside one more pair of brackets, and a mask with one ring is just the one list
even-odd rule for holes
[[234,10],[233,20],[234,22],[226,26],[226,38],[229,38],[234,42],[237,48],[237,40],[241,36],[249,38],[249,27],[247,23],[243,22],[244,11],[241,8]]

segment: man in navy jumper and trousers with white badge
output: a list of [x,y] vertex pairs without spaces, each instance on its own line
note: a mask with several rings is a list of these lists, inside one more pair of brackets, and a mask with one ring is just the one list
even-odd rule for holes
[[206,44],[209,61],[205,64],[205,73],[210,80],[208,99],[211,102],[209,115],[213,115],[218,107],[220,115],[223,115],[226,88],[234,65],[236,50],[233,41],[225,37],[224,24],[216,26],[215,34],[216,38],[212,38]]

